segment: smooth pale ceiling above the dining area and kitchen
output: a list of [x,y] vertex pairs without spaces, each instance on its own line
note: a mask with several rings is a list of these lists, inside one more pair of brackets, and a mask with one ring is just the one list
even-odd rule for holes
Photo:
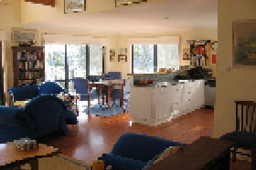
[[217,3],[218,0],[165,0],[162,3],[118,7],[109,12],[66,16],[29,26],[109,34],[217,28]]

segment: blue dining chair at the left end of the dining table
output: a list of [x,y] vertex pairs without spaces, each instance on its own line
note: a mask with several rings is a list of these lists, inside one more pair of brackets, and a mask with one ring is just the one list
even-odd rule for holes
[[76,94],[80,95],[80,101],[88,101],[88,114],[90,114],[91,99],[95,99],[97,95],[89,89],[88,79],[80,77],[74,78],[74,87]]

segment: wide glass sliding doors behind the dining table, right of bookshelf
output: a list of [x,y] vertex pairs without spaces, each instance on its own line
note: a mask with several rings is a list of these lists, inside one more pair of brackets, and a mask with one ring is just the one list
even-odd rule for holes
[[103,73],[102,49],[100,45],[45,45],[46,80],[56,81],[73,93],[75,77]]

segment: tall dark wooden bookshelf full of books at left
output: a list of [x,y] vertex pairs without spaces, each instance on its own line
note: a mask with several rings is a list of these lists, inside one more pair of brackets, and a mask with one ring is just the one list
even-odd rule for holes
[[45,80],[44,46],[13,46],[14,86],[38,85]]

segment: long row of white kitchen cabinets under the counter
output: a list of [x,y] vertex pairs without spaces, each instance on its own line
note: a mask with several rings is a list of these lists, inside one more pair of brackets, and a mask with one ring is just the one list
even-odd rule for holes
[[160,125],[204,105],[204,80],[165,87],[132,85],[130,97],[133,123]]

